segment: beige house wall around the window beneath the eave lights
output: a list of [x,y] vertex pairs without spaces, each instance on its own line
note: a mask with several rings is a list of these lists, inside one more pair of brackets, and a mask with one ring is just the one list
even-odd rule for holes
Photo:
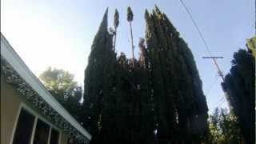
[[[1,74],[1,143],[10,144],[23,100],[18,91],[6,82]],[[34,110],[36,111],[36,110]],[[43,118],[42,115],[38,114]],[[67,144],[68,137],[60,131],[60,144]]]

